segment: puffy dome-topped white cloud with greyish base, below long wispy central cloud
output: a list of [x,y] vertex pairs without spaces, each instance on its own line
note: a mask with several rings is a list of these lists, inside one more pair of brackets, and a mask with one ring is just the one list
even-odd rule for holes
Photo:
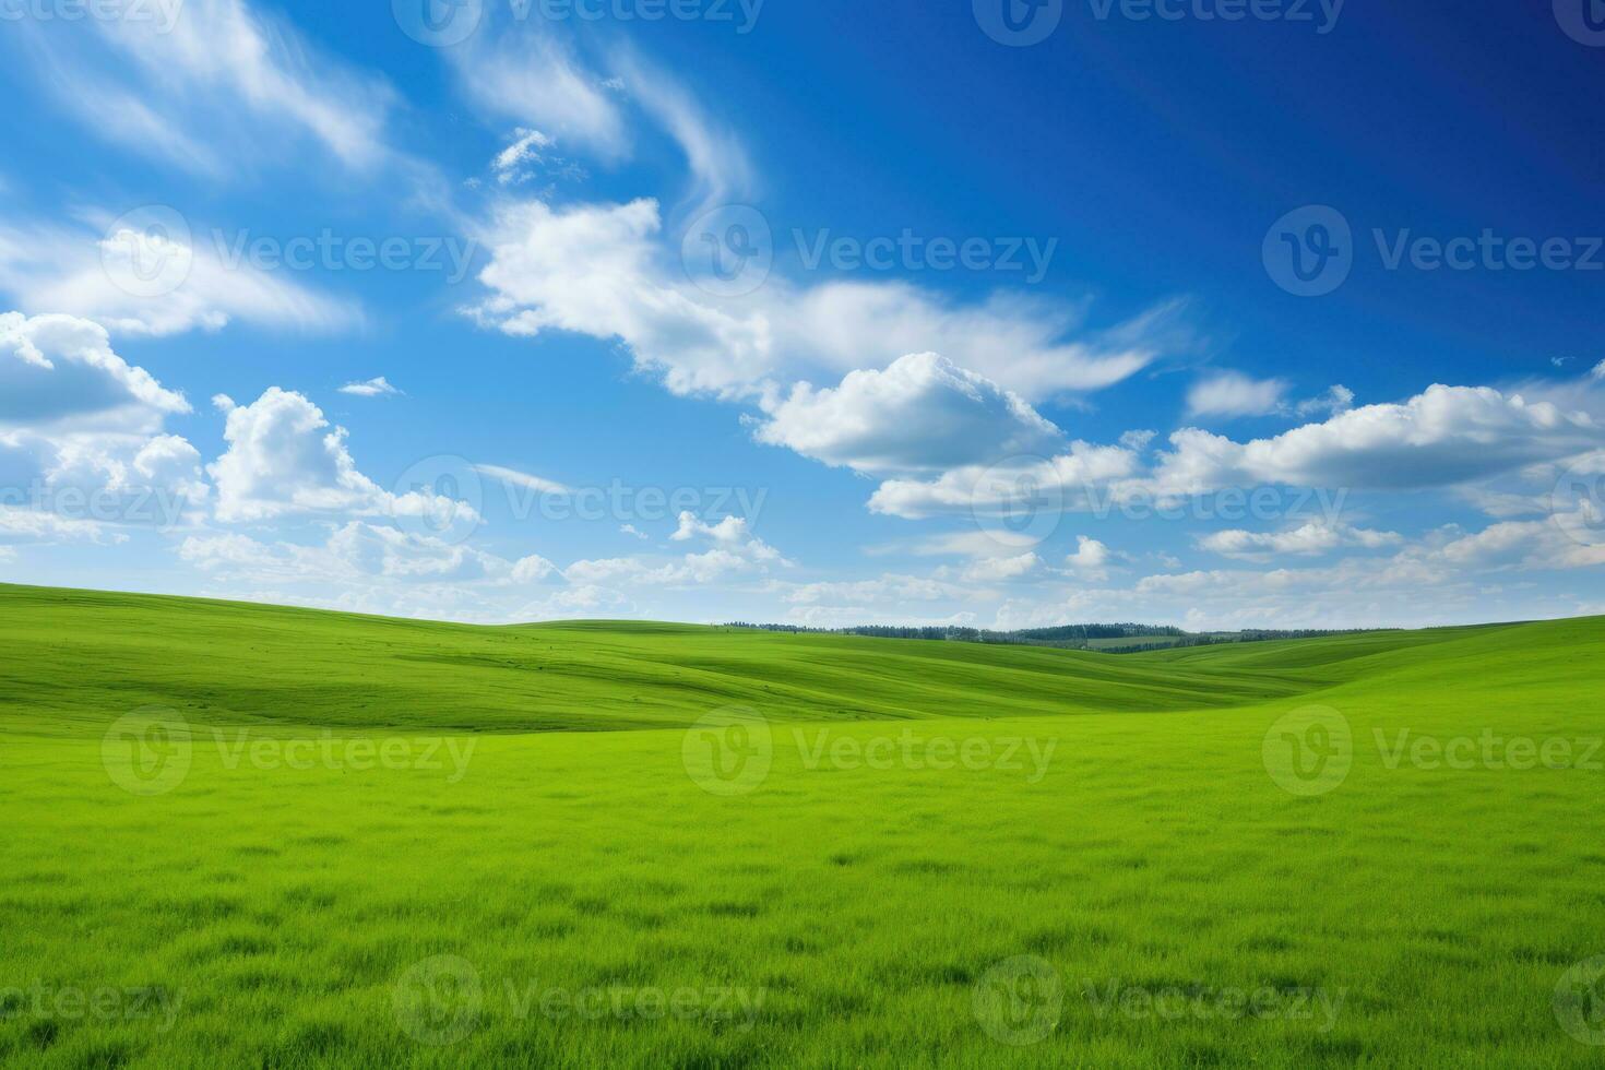
[[1051,454],[1063,435],[1018,395],[936,353],[849,372],[836,388],[798,383],[756,438],[857,472],[920,472]]

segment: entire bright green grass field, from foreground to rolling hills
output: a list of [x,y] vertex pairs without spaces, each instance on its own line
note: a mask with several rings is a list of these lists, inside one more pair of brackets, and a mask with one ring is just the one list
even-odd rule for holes
[[1595,1067],[1602,666],[0,587],[0,1060]]

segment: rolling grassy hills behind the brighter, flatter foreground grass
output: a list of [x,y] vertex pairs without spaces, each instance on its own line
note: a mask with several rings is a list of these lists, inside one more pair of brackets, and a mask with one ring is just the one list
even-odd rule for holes
[[[473,627],[231,602],[0,586],[0,723],[104,725],[164,704],[201,723],[459,732],[1167,712],[1432,683],[1475,667],[1592,679],[1605,622],[1379,632],[1111,658],[681,624]],[[1395,679],[1398,677],[1398,679]]]

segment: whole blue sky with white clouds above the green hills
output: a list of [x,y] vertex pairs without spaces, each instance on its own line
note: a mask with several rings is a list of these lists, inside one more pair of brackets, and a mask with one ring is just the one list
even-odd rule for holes
[[1589,13],[0,0],[0,576],[1605,613]]

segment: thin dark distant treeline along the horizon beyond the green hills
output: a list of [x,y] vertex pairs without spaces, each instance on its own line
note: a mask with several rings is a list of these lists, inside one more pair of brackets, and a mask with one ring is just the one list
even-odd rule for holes
[[[753,624],[730,621],[724,627],[745,627],[759,632],[793,632],[799,635],[863,635],[868,638],[924,638],[950,643],[1002,643],[1010,646],[1056,646],[1063,650],[1096,650],[1109,655],[1130,655],[1144,650],[1170,650],[1175,646],[1213,646],[1218,643],[1263,643],[1281,638],[1323,638],[1327,635],[1355,635],[1359,632],[1390,632],[1398,629],[1242,629],[1237,632],[1186,632],[1168,624],[1064,624],[1059,627],[1029,627],[995,632],[979,627],[902,627],[888,624],[862,624],[857,627],[807,627],[802,624]],[[1124,642],[1122,642],[1124,640]]]

